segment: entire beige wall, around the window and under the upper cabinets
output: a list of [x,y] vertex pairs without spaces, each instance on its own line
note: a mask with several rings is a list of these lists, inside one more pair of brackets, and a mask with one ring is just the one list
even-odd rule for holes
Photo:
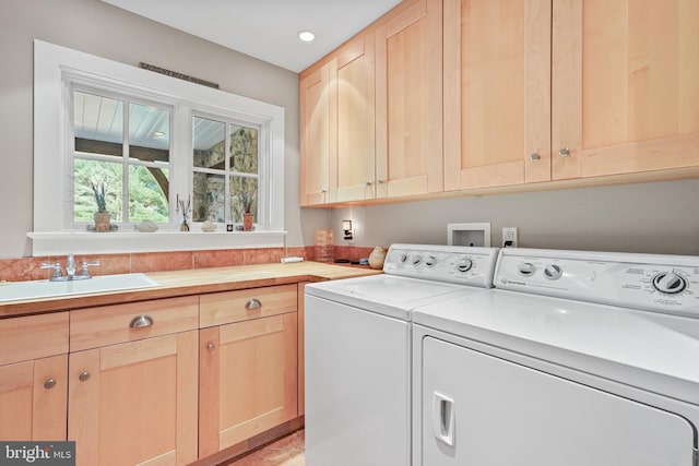
[[699,254],[699,181],[684,180],[412,202],[328,211],[298,207],[298,77],[291,71],[139,17],[98,0],[0,1],[0,256],[29,255],[32,41],[50,41],[137,65],[140,61],[221,84],[286,109],[288,246],[353,218],[358,246],[446,242],[448,223],[517,226],[521,246]]

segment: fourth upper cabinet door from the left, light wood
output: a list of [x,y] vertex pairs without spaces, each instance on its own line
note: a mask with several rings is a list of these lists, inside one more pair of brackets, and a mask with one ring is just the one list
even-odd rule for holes
[[445,0],[445,190],[550,179],[550,0]]

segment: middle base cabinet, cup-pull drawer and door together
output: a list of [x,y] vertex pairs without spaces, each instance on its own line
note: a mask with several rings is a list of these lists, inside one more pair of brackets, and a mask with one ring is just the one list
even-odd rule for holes
[[198,297],[71,311],[71,347],[123,342],[70,354],[78,465],[197,461],[198,316]]

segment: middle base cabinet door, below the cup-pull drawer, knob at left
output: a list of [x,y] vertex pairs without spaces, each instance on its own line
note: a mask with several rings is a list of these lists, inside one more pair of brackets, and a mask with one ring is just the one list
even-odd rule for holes
[[197,459],[198,332],[73,353],[68,439],[85,466]]

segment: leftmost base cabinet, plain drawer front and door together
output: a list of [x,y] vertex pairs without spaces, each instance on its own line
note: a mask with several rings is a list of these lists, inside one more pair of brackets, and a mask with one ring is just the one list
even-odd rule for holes
[[68,312],[0,321],[0,439],[66,440]]

